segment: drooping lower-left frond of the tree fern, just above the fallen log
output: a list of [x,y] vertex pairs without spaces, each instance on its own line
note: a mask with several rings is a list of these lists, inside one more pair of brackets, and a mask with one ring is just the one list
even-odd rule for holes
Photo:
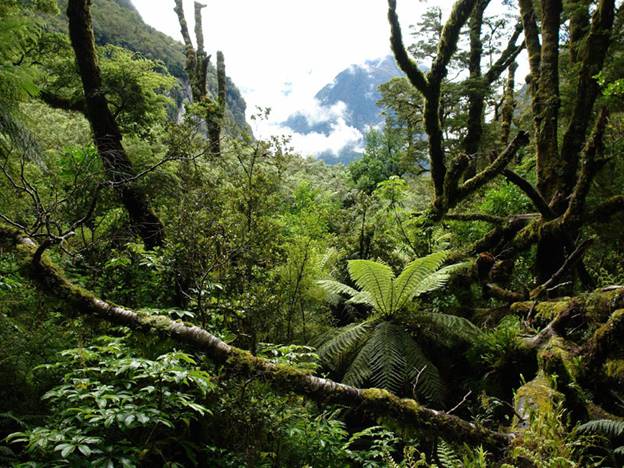
[[370,336],[374,326],[374,322],[366,321],[337,330],[332,338],[318,347],[321,363],[332,371],[344,367],[354,349],[359,348]]

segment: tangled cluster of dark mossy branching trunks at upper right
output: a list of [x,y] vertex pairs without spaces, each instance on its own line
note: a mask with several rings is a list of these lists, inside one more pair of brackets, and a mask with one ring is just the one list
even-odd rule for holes
[[[611,42],[611,30],[615,14],[615,0],[598,1],[590,18],[590,4],[585,0],[575,0],[564,5],[562,0],[540,0],[536,8],[534,0],[519,0],[521,22],[510,37],[507,48],[491,69],[482,73],[480,67],[483,24],[486,0],[459,0],[447,20],[438,43],[437,56],[429,73],[422,72],[409,56],[396,14],[396,0],[388,0],[388,18],[391,26],[391,45],[400,68],[406,73],[411,84],[423,96],[425,103],[424,121],[429,137],[431,178],[434,186],[431,216],[434,221],[448,216],[448,212],[460,206],[470,195],[485,186],[498,175],[504,175],[517,185],[533,202],[539,212],[529,225],[520,226],[518,216],[510,216],[508,222],[498,223],[495,229],[480,242],[478,249],[495,248],[497,255],[517,255],[527,248],[537,245],[535,275],[538,284],[550,279],[565,264],[575,251],[582,228],[594,222],[594,217],[607,214],[607,207],[621,210],[624,202],[615,197],[594,209],[585,207],[584,199],[588,191],[586,181],[592,180],[598,162],[590,162],[584,168],[582,161],[592,148],[600,147],[596,135],[589,133],[598,128],[597,112],[594,109],[599,95],[596,76],[602,70],[606,53]],[[538,14],[540,15],[538,20]],[[566,18],[570,18],[571,36],[567,44],[560,44],[561,28]],[[468,125],[467,136],[463,141],[463,152],[455,152],[451,158],[445,150],[443,133],[440,129],[441,82],[446,76],[449,60],[457,48],[458,34],[468,20],[470,25],[470,56],[468,64]],[[514,156],[528,143],[527,135],[513,131],[513,72],[514,59],[520,51],[516,39],[524,32],[524,44],[529,57],[530,75],[527,78],[531,96],[533,125],[531,139],[536,159],[537,186],[520,177],[507,166]],[[566,128],[560,119],[559,69],[560,50],[568,45],[575,60],[572,73],[577,73],[577,92],[573,97],[572,116]],[[511,67],[510,79],[503,105],[501,130],[505,150],[494,157],[478,173],[471,168],[471,158],[482,148],[484,97],[488,86]],[[509,88],[509,86],[512,86]],[[598,152],[599,153],[599,152]],[[593,157],[592,160],[599,158]],[[464,177],[462,177],[462,175]],[[583,180],[584,179],[584,180]],[[582,199],[582,200],[581,200]],[[575,213],[570,216],[570,213]],[[453,213],[457,216],[460,213]],[[463,214],[463,213],[462,213]],[[477,219],[476,214],[465,214],[465,220]],[[527,219],[530,214],[527,214]],[[574,221],[573,221],[574,219]],[[502,225],[504,224],[504,226]],[[581,240],[582,242],[582,240]],[[477,250],[476,252],[483,250]],[[578,265],[579,277],[584,285],[591,284],[582,262]],[[572,271],[569,279],[574,279]]]

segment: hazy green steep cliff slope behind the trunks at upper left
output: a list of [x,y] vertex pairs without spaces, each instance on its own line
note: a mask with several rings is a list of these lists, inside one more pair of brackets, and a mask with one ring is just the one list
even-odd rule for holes
[[[61,15],[53,20],[52,27],[67,29],[67,20],[64,15],[67,0],[59,0]],[[187,77],[184,71],[184,48],[181,43],[166,34],[157,31],[146,24],[131,0],[93,0],[93,23],[95,40],[99,45],[113,44],[138,52],[145,57],[160,60],[165,64],[169,73],[178,78],[181,89],[187,88]],[[172,18],[175,18],[173,6]],[[227,57],[226,57],[227,58]],[[208,70],[208,82],[211,90],[216,88],[217,72],[212,65]],[[181,105],[184,92],[174,96]],[[228,78],[227,94],[229,117],[239,128],[248,129],[245,120],[247,104],[236,85]]]

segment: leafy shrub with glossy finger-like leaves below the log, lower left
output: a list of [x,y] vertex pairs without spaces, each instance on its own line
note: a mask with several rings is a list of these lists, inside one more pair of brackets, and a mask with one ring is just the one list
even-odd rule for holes
[[53,465],[122,466],[195,460],[191,424],[210,414],[203,401],[215,389],[193,357],[171,352],[156,359],[128,354],[120,338],[61,353],[45,369],[61,371],[63,383],[44,396],[45,424],[14,433],[31,460]]

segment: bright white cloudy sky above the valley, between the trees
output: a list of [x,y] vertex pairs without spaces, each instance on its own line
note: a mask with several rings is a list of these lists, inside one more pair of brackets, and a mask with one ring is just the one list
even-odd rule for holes
[[[256,106],[271,107],[270,119],[255,123],[254,134],[268,137],[291,131],[280,123],[295,112],[307,115],[340,112],[321,109],[314,95],[352,64],[391,53],[385,0],[203,0],[208,53],[225,54],[227,74],[241,90],[248,115]],[[173,0],[132,0],[146,23],[181,41]],[[427,4],[448,12],[452,0],[399,0],[398,12],[407,33]],[[184,0],[193,31],[193,0]],[[343,119],[328,136],[293,136],[296,150],[336,152],[361,137]]]

